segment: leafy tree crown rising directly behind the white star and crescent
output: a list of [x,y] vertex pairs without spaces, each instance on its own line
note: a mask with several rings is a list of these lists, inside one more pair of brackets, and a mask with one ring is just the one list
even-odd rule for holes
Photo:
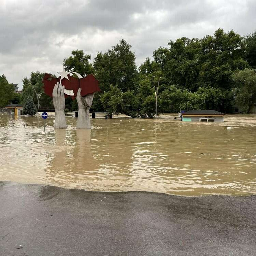
[[66,71],[77,72],[83,77],[94,73],[93,65],[89,63],[90,55],[85,54],[83,50],[74,50],[71,54],[73,56],[63,61],[63,66]]

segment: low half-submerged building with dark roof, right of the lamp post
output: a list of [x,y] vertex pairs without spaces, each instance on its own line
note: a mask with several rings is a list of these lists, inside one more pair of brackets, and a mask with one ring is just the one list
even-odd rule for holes
[[182,113],[181,120],[186,122],[224,122],[225,114],[215,110],[189,110]]

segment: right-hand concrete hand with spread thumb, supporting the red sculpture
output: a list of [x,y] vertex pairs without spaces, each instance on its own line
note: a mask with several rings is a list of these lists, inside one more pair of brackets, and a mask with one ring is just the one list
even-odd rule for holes
[[87,94],[86,96],[81,96],[81,88],[78,89],[76,100],[78,103],[78,118],[76,129],[90,129],[90,107],[93,103],[94,93]]

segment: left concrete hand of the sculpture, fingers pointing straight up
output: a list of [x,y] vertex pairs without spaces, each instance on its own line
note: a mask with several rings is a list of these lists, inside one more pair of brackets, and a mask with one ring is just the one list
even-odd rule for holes
[[66,129],[66,119],[65,119],[65,96],[64,96],[65,86],[57,83],[53,88],[53,105],[55,108],[55,129]]

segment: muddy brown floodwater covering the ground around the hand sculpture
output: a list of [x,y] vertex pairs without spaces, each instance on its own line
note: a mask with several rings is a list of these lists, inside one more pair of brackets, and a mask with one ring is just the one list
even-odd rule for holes
[[[54,130],[54,116],[0,113],[0,181],[93,191],[154,191],[183,196],[256,194],[256,115],[224,123],[91,119],[91,130]],[[227,130],[227,127],[231,127]]]

